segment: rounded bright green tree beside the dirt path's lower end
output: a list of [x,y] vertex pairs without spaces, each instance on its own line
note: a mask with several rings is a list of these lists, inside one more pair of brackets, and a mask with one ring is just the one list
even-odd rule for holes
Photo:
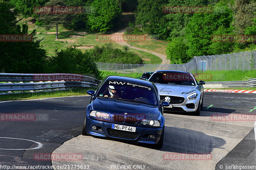
[[183,37],[175,37],[166,48],[167,58],[172,64],[187,63],[190,59],[186,54],[187,49],[188,45],[184,43]]

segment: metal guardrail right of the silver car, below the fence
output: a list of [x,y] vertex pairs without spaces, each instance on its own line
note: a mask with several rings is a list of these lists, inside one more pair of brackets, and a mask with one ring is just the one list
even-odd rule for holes
[[256,78],[247,81],[215,81],[206,82],[204,88],[226,88],[226,87],[256,87]]

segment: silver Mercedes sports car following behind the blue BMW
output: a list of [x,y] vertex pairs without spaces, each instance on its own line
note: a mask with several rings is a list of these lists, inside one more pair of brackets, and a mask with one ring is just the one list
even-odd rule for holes
[[199,81],[198,83],[192,73],[158,70],[149,78],[141,78],[154,82],[160,99],[170,104],[164,107],[164,111],[191,112],[192,115],[200,115],[200,110],[203,108],[205,82]]

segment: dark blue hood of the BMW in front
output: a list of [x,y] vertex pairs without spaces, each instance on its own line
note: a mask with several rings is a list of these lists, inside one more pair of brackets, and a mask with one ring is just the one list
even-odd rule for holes
[[124,113],[127,113],[127,115],[124,116],[137,117],[139,120],[156,120],[161,113],[156,106],[108,98],[96,98],[93,100],[93,110],[105,112],[111,116],[124,115]]

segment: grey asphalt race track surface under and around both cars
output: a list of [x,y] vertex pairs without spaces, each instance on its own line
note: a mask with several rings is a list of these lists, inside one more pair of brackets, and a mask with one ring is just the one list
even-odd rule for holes
[[[256,165],[255,94],[205,92],[200,116],[165,113],[161,150],[80,135],[89,100],[90,96],[79,96],[0,102],[0,169],[13,165],[52,165],[55,169],[82,169],[78,165],[84,165],[83,169],[129,167],[124,165],[131,165],[130,169],[231,169],[235,165],[239,169]],[[11,114],[31,121],[18,121]],[[220,115],[225,120],[216,117]],[[36,157],[47,153],[75,153],[83,159],[51,161]],[[177,155],[179,159],[172,159]]]

